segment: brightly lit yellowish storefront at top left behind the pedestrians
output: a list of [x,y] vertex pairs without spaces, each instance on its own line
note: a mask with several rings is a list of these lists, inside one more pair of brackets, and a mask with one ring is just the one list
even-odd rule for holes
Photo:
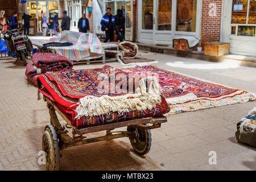
[[46,14],[46,17],[53,18],[53,12],[55,12],[60,18],[60,2],[59,0],[28,0],[26,13],[32,16],[32,20],[35,23],[31,24],[31,28],[35,28],[35,31],[42,32],[42,15]]

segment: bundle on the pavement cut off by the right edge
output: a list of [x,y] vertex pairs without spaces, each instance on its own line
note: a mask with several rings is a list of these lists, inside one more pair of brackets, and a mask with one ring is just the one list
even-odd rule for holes
[[256,107],[237,123],[236,138],[241,143],[256,147]]

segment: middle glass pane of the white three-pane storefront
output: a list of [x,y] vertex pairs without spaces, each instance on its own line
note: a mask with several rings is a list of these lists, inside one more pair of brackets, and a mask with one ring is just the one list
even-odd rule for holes
[[171,30],[172,0],[158,1],[158,30]]

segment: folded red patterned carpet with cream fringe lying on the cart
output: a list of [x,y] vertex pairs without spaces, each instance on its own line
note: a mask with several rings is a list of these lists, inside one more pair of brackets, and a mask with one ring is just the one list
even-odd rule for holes
[[[106,75],[102,77],[101,73]],[[109,74],[109,67],[46,73],[38,77],[38,88],[76,129],[156,117],[170,111],[155,77],[139,81],[137,92],[122,93],[111,90],[115,78]],[[110,87],[106,86],[110,92],[101,92],[105,80],[111,82]]]

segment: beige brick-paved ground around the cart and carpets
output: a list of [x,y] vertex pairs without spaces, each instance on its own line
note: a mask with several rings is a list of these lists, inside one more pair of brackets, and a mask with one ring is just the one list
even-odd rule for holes
[[[255,68],[145,51],[141,54],[158,60],[160,68],[256,93]],[[13,63],[0,60],[0,170],[44,170],[37,154],[44,126],[49,123],[46,103],[36,100],[37,89],[27,82],[22,63]],[[76,65],[75,69],[97,67],[102,64]],[[253,101],[171,115],[162,128],[152,130],[151,151],[144,157],[134,154],[126,138],[69,148],[63,152],[60,169],[256,170],[255,148],[237,143],[234,137],[236,123],[255,105]],[[208,163],[209,151],[216,151],[216,165]]]

